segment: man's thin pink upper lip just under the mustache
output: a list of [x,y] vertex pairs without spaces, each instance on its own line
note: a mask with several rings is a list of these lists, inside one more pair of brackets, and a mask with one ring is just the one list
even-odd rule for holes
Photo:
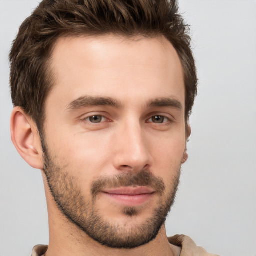
[[124,194],[124,195],[138,195],[138,194],[150,194],[154,190],[146,186],[136,186],[136,187],[118,187],[118,188],[109,188],[103,189],[102,192],[108,194]]

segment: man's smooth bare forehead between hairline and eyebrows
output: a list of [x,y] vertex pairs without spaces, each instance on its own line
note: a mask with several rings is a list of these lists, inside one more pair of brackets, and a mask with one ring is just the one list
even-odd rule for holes
[[181,62],[164,37],[59,38],[52,52],[51,69],[54,85],[46,103],[53,98],[67,105],[86,95],[114,96],[130,103],[172,96],[184,103]]

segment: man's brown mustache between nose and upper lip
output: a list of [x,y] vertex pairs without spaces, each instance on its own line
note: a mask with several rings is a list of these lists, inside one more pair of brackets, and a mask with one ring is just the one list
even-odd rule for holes
[[111,177],[99,177],[91,184],[91,194],[95,197],[103,188],[126,186],[149,186],[160,194],[162,194],[165,189],[162,178],[154,176],[151,172],[141,170],[135,174],[120,173]]

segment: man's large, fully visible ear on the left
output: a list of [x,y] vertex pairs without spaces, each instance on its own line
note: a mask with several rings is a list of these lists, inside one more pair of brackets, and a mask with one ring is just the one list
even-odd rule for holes
[[43,168],[41,140],[34,121],[21,107],[14,107],[10,118],[11,140],[21,157],[36,169]]

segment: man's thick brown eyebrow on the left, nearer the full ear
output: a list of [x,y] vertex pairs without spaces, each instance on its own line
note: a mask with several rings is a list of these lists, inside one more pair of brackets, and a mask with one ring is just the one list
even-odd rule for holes
[[98,105],[121,108],[121,103],[110,97],[82,96],[68,104],[66,110],[76,110],[82,107]]

